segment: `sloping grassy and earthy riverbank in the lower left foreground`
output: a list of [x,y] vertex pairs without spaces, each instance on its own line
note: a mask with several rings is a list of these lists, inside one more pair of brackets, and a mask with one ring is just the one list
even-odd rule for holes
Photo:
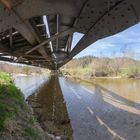
[[9,74],[0,72],[0,139],[46,140],[42,130]]

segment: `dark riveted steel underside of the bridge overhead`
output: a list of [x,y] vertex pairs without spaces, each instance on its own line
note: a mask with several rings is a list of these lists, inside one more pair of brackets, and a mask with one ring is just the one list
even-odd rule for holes
[[[140,20],[139,0],[0,0],[0,60],[58,69]],[[71,49],[74,32],[84,36]]]

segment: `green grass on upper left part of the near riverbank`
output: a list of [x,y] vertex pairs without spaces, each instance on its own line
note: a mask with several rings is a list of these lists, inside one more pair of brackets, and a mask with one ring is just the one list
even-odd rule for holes
[[0,81],[0,132],[2,132],[5,131],[5,121],[15,117],[17,104],[23,104],[24,99],[8,74],[0,72]]

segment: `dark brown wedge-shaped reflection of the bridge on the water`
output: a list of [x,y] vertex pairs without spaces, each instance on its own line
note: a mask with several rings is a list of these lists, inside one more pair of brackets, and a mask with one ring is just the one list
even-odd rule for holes
[[57,76],[51,76],[27,101],[46,132],[72,140],[72,127]]

